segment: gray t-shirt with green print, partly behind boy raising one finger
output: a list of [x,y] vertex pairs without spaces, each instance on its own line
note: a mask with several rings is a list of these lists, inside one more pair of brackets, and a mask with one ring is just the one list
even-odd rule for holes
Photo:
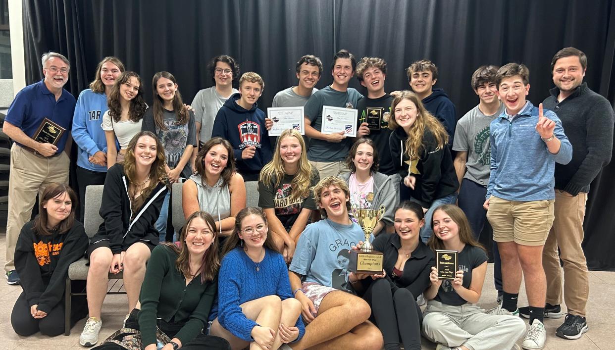
[[491,144],[489,141],[489,124],[504,111],[504,104],[493,116],[485,116],[478,106],[470,109],[461,117],[455,128],[453,150],[467,152],[466,175],[470,181],[483,186],[489,183],[489,164]]

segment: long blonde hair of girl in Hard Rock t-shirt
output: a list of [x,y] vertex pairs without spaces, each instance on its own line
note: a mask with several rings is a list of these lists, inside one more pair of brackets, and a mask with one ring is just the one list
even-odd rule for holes
[[299,144],[301,145],[301,156],[299,157],[299,167],[295,177],[292,181],[292,189],[290,191],[290,200],[295,201],[295,199],[306,198],[309,196],[310,183],[312,178],[315,176],[315,169],[308,162],[306,144],[299,133],[295,129],[284,130],[280,137],[277,138],[276,141],[276,149],[274,150],[273,157],[271,162],[267,163],[263,169],[261,170],[261,175],[258,178],[258,186],[268,185],[269,183],[274,183],[274,186],[279,186],[280,181],[284,178],[284,161],[282,160],[282,155],[280,154],[280,143],[286,137],[295,137]]

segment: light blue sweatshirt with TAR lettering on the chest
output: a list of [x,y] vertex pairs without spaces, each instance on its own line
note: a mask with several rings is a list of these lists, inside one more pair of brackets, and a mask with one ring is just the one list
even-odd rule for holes
[[77,165],[93,172],[106,172],[107,167],[88,160],[98,151],[107,153],[105,130],[100,127],[107,107],[105,93],[85,89],[79,93],[73,114],[73,140],[77,144]]

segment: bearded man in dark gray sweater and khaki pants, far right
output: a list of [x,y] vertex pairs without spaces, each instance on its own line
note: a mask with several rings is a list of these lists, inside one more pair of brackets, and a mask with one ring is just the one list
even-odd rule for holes
[[[573,145],[573,158],[555,165],[555,220],[542,252],[547,277],[544,309],[549,318],[561,317],[560,258],[564,263],[564,300],[568,314],[555,335],[578,339],[587,332],[585,304],[589,295],[587,263],[581,249],[585,202],[592,180],[611,161],[613,151],[613,107],[583,82],[587,57],[574,47],[555,54],[551,73],[555,87],[543,104],[557,113]],[[561,254],[558,256],[557,248]],[[528,308],[520,308],[527,315]]]

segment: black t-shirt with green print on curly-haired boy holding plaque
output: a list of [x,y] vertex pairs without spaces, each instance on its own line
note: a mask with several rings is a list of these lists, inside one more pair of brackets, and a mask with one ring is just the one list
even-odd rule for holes
[[391,157],[391,148],[389,148],[389,118],[391,118],[391,103],[393,97],[388,93],[379,98],[364,97],[357,103],[357,109],[359,110],[357,116],[359,116],[359,124],[367,121],[367,114],[380,115],[380,130],[370,130],[370,134],[366,137],[371,138],[376,144],[378,149],[378,158],[380,161],[381,173],[386,175],[393,175],[396,173],[395,166],[393,165],[393,159]]

